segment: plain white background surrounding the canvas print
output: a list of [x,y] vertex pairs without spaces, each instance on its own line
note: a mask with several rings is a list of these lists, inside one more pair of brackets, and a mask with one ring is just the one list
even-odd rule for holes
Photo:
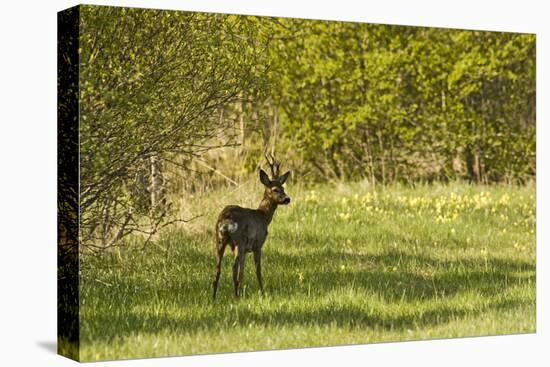
[[[550,27],[545,1],[91,1],[166,9],[537,33],[537,333],[99,362],[97,366],[542,366],[548,319]],[[73,1],[0,9],[0,365],[76,365],[56,340],[56,12]],[[543,102],[546,101],[546,104]],[[200,343],[200,340],[197,340]]]

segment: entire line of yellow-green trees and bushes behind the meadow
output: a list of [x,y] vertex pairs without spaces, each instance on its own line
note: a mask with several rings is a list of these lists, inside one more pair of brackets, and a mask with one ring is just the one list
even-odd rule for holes
[[85,243],[169,223],[166,166],[220,147],[232,177],[535,177],[534,35],[83,6],[79,57]]

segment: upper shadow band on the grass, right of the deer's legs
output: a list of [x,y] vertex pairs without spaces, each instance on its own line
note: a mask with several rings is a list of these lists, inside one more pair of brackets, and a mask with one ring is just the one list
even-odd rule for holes
[[[295,256],[280,253],[272,256],[272,263],[288,264],[290,269],[303,268]],[[533,282],[535,279],[533,264],[497,258],[437,260],[424,255],[411,255],[397,251],[359,255],[325,250],[312,261],[318,267],[315,272],[307,274],[306,277],[312,278],[310,283],[316,291],[326,293],[353,285],[370,293],[376,293],[388,302],[429,300],[466,291],[474,291],[489,297],[523,282]],[[352,269],[365,270],[346,272],[339,271],[338,266],[325,266],[334,261]],[[400,270],[411,267],[417,271]],[[395,271],[388,269],[395,269]],[[532,275],[518,275],[522,272],[530,272]],[[283,274],[283,276],[288,275]],[[291,274],[291,276],[294,276],[294,280],[285,280],[296,282],[295,275]],[[287,282],[280,281],[279,284],[287,284]],[[288,293],[288,288],[275,287],[273,292],[284,296]]]

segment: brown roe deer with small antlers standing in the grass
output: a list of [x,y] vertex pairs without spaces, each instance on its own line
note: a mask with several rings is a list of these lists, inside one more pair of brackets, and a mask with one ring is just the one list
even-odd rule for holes
[[290,198],[285,194],[283,184],[288,178],[289,172],[279,176],[280,163],[271,156],[271,162],[265,157],[271,168],[271,179],[263,169],[260,169],[260,181],[265,186],[264,197],[258,209],[241,208],[237,205],[226,206],[216,222],[216,278],[214,279],[214,291],[212,298],[216,299],[216,291],[220,280],[223,254],[227,245],[231,247],[235,255],[233,263],[233,283],[235,297],[241,294],[244,275],[244,259],[247,252],[254,253],[256,264],[256,277],[260,285],[260,291],[264,293],[262,282],[262,246],[267,238],[267,227],[273,219],[273,214],[279,204],[290,203]]

